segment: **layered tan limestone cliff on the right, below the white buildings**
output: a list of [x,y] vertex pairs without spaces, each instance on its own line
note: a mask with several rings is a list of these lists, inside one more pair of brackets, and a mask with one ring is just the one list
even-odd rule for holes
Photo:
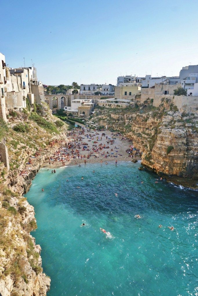
[[123,132],[142,151],[142,165],[157,173],[196,178],[198,173],[198,113],[178,111],[165,104],[140,108],[98,108],[93,120],[100,126]]

